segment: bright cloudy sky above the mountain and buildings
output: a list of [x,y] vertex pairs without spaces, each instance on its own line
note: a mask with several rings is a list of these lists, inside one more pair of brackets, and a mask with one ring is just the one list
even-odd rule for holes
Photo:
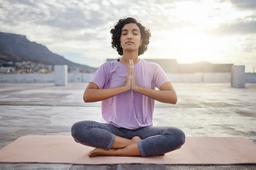
[[256,0],[0,0],[0,32],[93,67],[119,57],[110,30],[125,17],[151,30],[140,58],[256,66]]

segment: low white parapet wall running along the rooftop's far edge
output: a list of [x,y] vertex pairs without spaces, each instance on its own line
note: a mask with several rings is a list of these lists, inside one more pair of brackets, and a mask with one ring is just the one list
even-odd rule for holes
[[[89,82],[93,77],[90,74],[68,74],[68,82]],[[202,74],[166,74],[171,82],[231,82],[230,73],[202,73]],[[246,73],[247,83],[256,83],[256,73]],[[0,82],[11,83],[54,83],[54,74],[0,74]]]

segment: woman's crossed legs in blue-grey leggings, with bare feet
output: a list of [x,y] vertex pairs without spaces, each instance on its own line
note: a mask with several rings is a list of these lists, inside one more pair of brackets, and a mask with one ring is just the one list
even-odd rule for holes
[[185,134],[175,127],[143,127],[131,133],[132,139],[120,137],[120,131],[94,121],[81,121],[71,128],[76,142],[96,147],[88,153],[90,157],[161,155],[179,149],[185,142]]

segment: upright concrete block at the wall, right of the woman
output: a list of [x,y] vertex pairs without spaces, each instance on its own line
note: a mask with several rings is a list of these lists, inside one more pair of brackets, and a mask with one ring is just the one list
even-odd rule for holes
[[231,87],[233,88],[245,87],[245,66],[244,65],[232,66]]

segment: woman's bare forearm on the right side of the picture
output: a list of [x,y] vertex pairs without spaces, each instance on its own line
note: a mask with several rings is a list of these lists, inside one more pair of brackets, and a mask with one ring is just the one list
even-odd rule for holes
[[177,95],[175,91],[166,90],[153,90],[149,88],[137,87],[136,92],[143,94],[144,96],[148,96],[151,99],[157,100],[158,102],[176,104],[177,103]]

